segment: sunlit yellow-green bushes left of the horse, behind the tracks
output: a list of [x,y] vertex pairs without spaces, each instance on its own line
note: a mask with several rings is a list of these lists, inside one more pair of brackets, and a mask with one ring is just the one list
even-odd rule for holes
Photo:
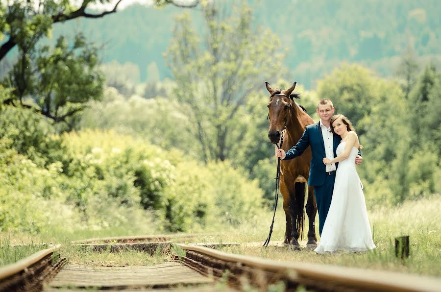
[[[133,102],[134,108],[136,102],[158,104]],[[199,165],[181,151],[115,131],[58,136],[41,115],[22,108],[2,107],[0,122],[1,230],[35,234],[61,229],[66,221],[71,231],[143,230],[151,212],[159,229],[199,230],[238,224],[261,204],[257,183],[230,164]]]

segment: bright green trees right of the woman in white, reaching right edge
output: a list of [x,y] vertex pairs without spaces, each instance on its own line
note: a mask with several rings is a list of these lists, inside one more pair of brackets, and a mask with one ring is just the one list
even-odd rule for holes
[[358,65],[343,65],[319,82],[319,96],[351,119],[365,146],[359,170],[370,206],[440,192],[440,77],[428,66],[416,80],[408,99],[398,83]]

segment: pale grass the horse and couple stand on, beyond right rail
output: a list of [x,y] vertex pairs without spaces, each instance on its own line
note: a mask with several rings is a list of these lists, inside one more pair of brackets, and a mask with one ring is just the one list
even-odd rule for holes
[[[318,255],[313,251],[292,251],[287,247],[261,248],[253,242],[261,242],[268,236],[272,213],[261,215],[253,223],[245,223],[235,233],[222,237],[200,237],[200,242],[239,242],[240,246],[225,246],[226,252],[252,255],[278,261],[294,261],[330,264],[347,267],[384,269],[399,272],[441,276],[441,196],[433,195],[418,201],[407,201],[397,207],[377,207],[368,216],[373,239],[377,248],[365,253],[337,253]],[[284,214],[277,211],[271,241],[282,241],[284,236]],[[318,219],[316,217],[316,226]],[[306,229],[307,230],[307,226]],[[306,233],[306,232],[305,232]],[[406,260],[395,257],[394,238],[410,236],[411,255]]]

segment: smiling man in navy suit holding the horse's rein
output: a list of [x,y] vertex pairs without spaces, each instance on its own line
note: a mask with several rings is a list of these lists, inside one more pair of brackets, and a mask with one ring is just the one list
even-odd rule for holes
[[[324,165],[323,158],[335,158],[337,156],[337,146],[339,146],[342,140],[339,135],[330,132],[331,118],[334,111],[331,100],[327,98],[320,99],[317,104],[317,113],[319,114],[320,121],[307,126],[303,136],[291,149],[286,152],[283,149],[278,149],[276,152],[276,156],[280,157],[281,160],[289,160],[300,156],[308,146],[311,146],[312,158],[308,185],[314,187],[317,210],[319,211],[320,236],[329,207],[331,206],[335,172],[338,166],[338,163]],[[363,158],[360,156],[360,151],[358,154],[355,163],[360,165]]]

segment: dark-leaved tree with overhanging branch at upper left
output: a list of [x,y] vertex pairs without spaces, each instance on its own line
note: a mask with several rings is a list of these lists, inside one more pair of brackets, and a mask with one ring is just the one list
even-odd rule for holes
[[[48,46],[38,49],[37,43],[49,35],[55,23],[80,17],[104,17],[115,13],[121,1],[112,10],[101,13],[87,11],[90,4],[98,0],[83,0],[79,7],[69,0],[1,1],[0,40],[6,37],[6,41],[0,46],[0,61],[14,47],[18,48],[17,62],[2,82],[14,90],[3,103],[34,108],[53,122],[66,122],[67,129],[72,129],[75,116],[83,110],[84,104],[102,95],[98,49],[87,44],[81,33],[72,44],[60,37],[52,50]],[[182,5],[172,0],[156,0],[155,3],[194,7],[198,1]]]

